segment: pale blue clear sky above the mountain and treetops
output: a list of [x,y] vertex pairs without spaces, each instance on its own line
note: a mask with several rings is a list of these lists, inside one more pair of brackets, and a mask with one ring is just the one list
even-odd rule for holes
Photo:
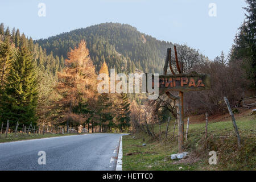
[[125,23],[214,59],[229,53],[245,6],[244,0],[2,0],[0,22],[34,40],[93,24]]

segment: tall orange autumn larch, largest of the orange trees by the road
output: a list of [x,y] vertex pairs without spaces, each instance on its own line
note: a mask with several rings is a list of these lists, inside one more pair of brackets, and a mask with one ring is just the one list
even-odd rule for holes
[[96,74],[85,41],[81,41],[79,47],[71,49],[65,64],[67,67],[58,73],[57,90],[62,98],[56,102],[56,106],[61,107],[59,117],[67,123],[68,130],[71,123],[84,123],[86,114],[90,114],[86,110],[87,105],[91,108],[95,105]]

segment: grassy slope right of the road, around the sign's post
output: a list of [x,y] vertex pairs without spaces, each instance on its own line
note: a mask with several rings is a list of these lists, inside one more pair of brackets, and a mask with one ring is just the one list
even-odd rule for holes
[[[170,158],[171,154],[178,152],[177,139],[172,137],[174,121],[170,123],[167,139],[164,138],[166,124],[162,125],[161,142],[142,132],[123,136],[123,170],[255,170],[255,116],[239,118],[236,123],[242,140],[241,148],[237,146],[232,121],[209,122],[207,142],[204,138],[205,123],[189,125],[185,142],[189,157],[181,160]],[[159,137],[159,125],[154,127]],[[146,146],[142,146],[143,143]],[[217,152],[216,165],[208,163],[208,154],[212,150]]]

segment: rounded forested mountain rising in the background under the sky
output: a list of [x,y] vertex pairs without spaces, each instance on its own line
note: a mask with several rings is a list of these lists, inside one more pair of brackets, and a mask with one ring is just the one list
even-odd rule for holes
[[162,73],[166,50],[173,46],[171,42],[159,41],[142,34],[135,27],[121,23],[101,23],[35,42],[45,48],[48,54],[52,51],[54,56],[63,56],[65,59],[69,49],[75,48],[83,39],[96,71],[106,61],[109,69],[115,68],[117,72],[131,73],[137,68],[143,72]]

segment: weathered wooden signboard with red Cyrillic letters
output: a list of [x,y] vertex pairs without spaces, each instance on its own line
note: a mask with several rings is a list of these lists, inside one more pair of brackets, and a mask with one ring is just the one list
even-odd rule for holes
[[[152,88],[154,88],[154,76],[152,76]],[[198,74],[196,72],[180,73],[177,75],[159,76],[159,95],[167,91],[199,91],[210,89],[209,75]]]

